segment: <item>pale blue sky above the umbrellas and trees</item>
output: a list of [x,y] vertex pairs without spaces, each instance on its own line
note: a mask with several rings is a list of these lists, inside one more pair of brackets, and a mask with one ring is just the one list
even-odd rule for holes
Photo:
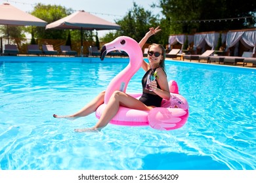
[[[75,11],[85,10],[109,22],[122,19],[123,16],[133,8],[133,2],[137,3],[137,5],[143,7],[145,10],[150,10],[154,15],[159,14],[161,11],[160,8],[150,7],[150,5],[158,2],[158,0],[0,0],[0,4],[9,3],[25,12],[32,12],[34,5],[37,3],[44,5],[61,5],[62,7],[72,8]],[[108,31],[98,31],[98,37],[102,37],[106,33],[108,33]]]

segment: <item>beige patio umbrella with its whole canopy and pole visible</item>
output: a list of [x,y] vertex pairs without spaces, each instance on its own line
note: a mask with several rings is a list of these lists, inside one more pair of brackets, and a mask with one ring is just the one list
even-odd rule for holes
[[83,30],[110,30],[120,29],[120,25],[108,22],[98,16],[79,10],[46,25],[45,29],[80,29],[81,30],[81,50],[83,49]]

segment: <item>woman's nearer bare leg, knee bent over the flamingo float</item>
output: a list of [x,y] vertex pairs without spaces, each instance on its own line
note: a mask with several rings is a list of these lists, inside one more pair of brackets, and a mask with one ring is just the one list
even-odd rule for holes
[[108,122],[119,110],[119,106],[127,107],[127,108],[134,108],[138,110],[150,110],[152,107],[148,107],[144,105],[138,99],[131,97],[123,92],[114,92],[108,101],[108,105],[106,105],[105,110],[102,112],[100,116],[100,120],[96,123],[95,127],[93,128],[85,128],[85,129],[75,129],[76,132],[91,132],[91,131],[100,131],[103,127],[105,127]]

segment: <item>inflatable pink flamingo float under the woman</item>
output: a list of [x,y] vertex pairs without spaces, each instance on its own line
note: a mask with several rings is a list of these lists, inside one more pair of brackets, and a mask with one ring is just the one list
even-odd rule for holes
[[[104,103],[96,110],[96,118],[100,118],[113,92],[116,90],[126,92],[131,77],[135,75],[142,65],[142,50],[138,42],[134,39],[121,36],[105,44],[102,47],[100,59],[103,60],[108,52],[114,50],[125,51],[129,55],[129,64],[108,85]],[[120,107],[116,116],[110,121],[110,124],[150,125],[150,127],[160,130],[171,130],[182,127],[188,119],[188,103],[179,94],[177,83],[174,80],[169,81],[169,89],[171,98],[169,100],[163,99],[161,107],[153,108],[150,111]],[[131,93],[130,95],[139,98],[142,93]]]

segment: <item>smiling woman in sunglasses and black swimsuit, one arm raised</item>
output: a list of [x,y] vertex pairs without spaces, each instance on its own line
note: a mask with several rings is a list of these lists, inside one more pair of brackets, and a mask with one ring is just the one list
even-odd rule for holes
[[[146,43],[148,38],[161,31],[159,26],[154,29],[150,28],[148,33],[139,42],[140,48]],[[170,92],[167,81],[167,75],[164,71],[165,61],[165,48],[160,44],[151,44],[148,47],[148,63],[143,61],[142,69],[146,71],[146,74],[142,78],[143,93],[140,99],[135,99],[127,93],[116,91],[110,97],[105,110],[102,112],[100,119],[96,125],[92,128],[75,129],[76,132],[89,132],[89,131],[100,131],[103,127],[108,125],[108,122],[117,114],[119,106],[134,108],[137,110],[151,110],[154,107],[160,107],[162,99],[169,100]],[[146,80],[148,75],[153,70],[156,74],[156,80],[150,82],[150,90],[146,89]],[[70,116],[58,116],[53,114],[54,118],[79,118],[87,116],[104,103],[104,93],[101,92],[91,103],[83,107],[77,113]]]

